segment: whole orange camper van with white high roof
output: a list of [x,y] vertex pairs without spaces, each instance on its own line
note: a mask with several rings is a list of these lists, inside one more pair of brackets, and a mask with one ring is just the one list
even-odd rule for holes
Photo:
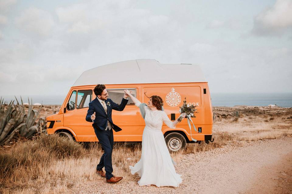
[[[98,66],[83,72],[73,84],[58,113],[47,117],[48,134],[58,133],[77,142],[97,142],[92,123],[85,121],[88,104],[96,98],[93,89],[105,84],[109,98],[120,103],[124,89],[129,89],[141,102],[144,95],[159,95],[164,109],[173,121],[180,115],[179,107],[186,97],[187,103],[197,105],[196,118],[192,118],[197,131],[189,129],[187,119],[170,129],[162,125],[167,147],[171,151],[184,149],[186,143],[213,141],[213,112],[208,83],[199,65],[160,64],[154,59],[137,59]],[[139,108],[129,99],[125,109],[112,113],[113,122],[123,130],[114,133],[115,142],[141,142],[145,126]],[[192,134],[192,137],[191,137]]]

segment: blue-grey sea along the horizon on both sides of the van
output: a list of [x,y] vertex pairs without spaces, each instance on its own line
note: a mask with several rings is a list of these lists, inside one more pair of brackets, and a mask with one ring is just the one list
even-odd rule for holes
[[[28,97],[34,103],[43,105],[61,105],[67,94],[64,95],[22,95],[23,102],[28,102]],[[268,106],[292,107],[291,93],[211,93],[212,106]],[[2,99],[10,102],[15,100],[14,95],[1,95]],[[20,102],[20,95],[16,95]]]

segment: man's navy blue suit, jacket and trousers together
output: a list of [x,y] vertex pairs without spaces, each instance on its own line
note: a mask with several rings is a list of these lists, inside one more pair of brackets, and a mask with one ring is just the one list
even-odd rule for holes
[[[120,105],[113,102],[111,99],[105,100],[107,106],[107,112],[105,112],[103,106],[98,99],[94,99],[89,102],[89,109],[86,115],[86,121],[92,122],[91,115],[95,112],[95,119],[93,120],[93,129],[96,134],[98,141],[104,149],[104,153],[100,158],[100,162],[96,169],[101,170],[103,167],[106,171],[106,179],[110,179],[113,174],[112,166],[112,151],[113,151],[113,130],[115,132],[121,131],[122,129],[117,125],[113,124],[112,120],[112,110],[123,111],[128,103],[128,99],[122,99]],[[105,130],[107,126],[107,121],[112,124],[112,129]]]

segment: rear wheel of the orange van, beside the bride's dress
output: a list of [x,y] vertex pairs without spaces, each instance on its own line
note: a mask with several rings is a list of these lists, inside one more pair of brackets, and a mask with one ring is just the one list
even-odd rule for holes
[[177,152],[186,148],[186,139],[180,133],[169,133],[164,139],[167,148],[171,152]]

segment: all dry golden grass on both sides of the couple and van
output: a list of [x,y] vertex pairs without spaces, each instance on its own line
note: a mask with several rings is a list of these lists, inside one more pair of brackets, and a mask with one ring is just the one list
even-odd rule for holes
[[[176,162],[189,153],[225,145],[242,146],[246,141],[292,136],[291,109],[276,109],[273,112],[261,107],[217,107],[215,111],[215,141],[187,144],[186,150],[171,153]],[[231,116],[234,111],[241,112],[237,120]],[[95,174],[102,153],[99,144],[92,143],[85,148],[55,135],[18,142],[9,148],[0,147],[0,193],[70,192],[71,188],[82,186],[84,182],[102,179]],[[131,176],[128,166],[134,165],[140,156],[141,143],[132,146],[116,143],[112,157],[113,173]]]

